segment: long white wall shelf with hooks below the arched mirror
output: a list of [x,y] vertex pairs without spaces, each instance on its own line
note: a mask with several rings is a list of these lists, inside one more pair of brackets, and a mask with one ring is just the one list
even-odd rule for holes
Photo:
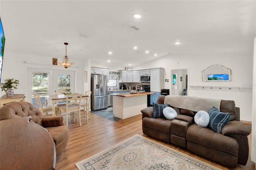
[[252,91],[252,87],[189,85],[194,90]]

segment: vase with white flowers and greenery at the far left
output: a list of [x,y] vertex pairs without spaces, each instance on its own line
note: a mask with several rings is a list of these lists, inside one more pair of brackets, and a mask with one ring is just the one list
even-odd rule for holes
[[1,83],[2,91],[5,91],[7,96],[12,96],[14,93],[14,89],[17,89],[17,86],[20,84],[20,81],[16,79],[14,80],[13,78],[8,78],[4,81],[4,83]]

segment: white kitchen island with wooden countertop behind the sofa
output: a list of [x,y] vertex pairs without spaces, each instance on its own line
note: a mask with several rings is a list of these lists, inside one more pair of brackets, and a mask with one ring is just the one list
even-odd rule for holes
[[155,93],[137,91],[137,93],[112,93],[114,117],[126,119],[141,114],[147,107],[147,95]]

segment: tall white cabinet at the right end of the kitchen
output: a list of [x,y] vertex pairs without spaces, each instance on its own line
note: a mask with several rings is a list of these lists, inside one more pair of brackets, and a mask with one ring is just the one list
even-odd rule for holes
[[164,88],[164,68],[150,69],[150,90],[161,92]]

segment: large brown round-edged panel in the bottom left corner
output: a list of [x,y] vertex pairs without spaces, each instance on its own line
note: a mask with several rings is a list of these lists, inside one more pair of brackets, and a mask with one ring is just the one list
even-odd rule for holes
[[31,117],[0,121],[0,169],[54,170],[52,136]]

